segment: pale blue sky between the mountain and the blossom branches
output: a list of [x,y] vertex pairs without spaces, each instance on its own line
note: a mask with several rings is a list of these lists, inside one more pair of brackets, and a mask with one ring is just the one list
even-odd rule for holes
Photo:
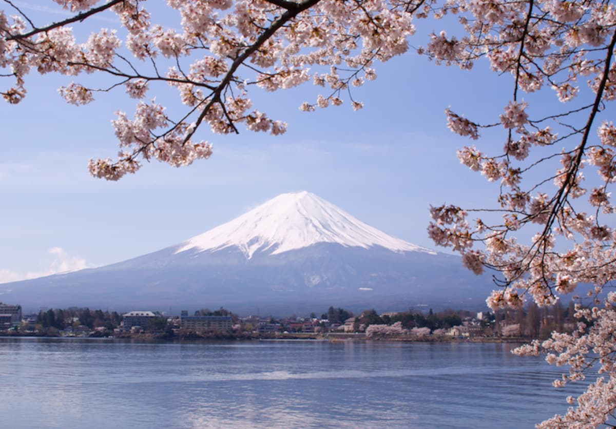
[[[418,33],[440,30],[426,25]],[[444,110],[452,106],[493,122],[513,82],[491,73],[487,62],[469,73],[413,52],[377,64],[376,72],[376,81],[354,92],[363,110],[354,112],[346,100],[301,112],[301,102],[320,93],[311,84],[257,91],[254,106],[288,122],[285,135],[241,130],[223,137],[204,127],[199,137],[214,143],[211,159],[182,169],[153,162],[120,182],[92,178],[86,165],[91,157],[115,156],[110,121],[118,108],[132,114],[134,100],[116,92],[91,105],[68,105],[57,87],[71,79],[31,74],[22,103],[0,103],[0,281],[156,251],[300,190],[391,235],[434,247],[426,235],[429,204],[488,206],[498,191],[458,162],[456,148],[472,142],[447,129]],[[150,97],[168,92],[153,89]],[[500,149],[503,138],[479,144]]]

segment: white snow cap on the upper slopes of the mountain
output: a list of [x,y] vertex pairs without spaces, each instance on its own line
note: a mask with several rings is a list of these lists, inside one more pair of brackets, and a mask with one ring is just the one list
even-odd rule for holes
[[188,239],[175,253],[238,247],[251,259],[257,251],[277,255],[317,243],[436,254],[379,231],[307,191],[280,194],[230,222]]

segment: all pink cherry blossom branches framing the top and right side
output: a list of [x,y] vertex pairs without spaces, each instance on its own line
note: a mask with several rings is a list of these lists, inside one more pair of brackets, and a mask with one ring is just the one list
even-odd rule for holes
[[[616,274],[616,231],[609,226],[616,127],[608,116],[616,98],[616,9],[609,0],[168,0],[181,17],[179,30],[153,23],[144,0],[50,0],[73,14],[55,23],[33,22],[15,2],[2,1],[0,94],[7,102],[26,97],[31,72],[75,79],[97,73],[113,81],[61,87],[76,105],[100,91],[124,90],[139,100],[132,115],[118,112],[113,121],[118,158],[89,164],[91,174],[108,180],[136,172],[144,159],[185,166],[208,158],[211,144],[197,139],[208,126],[214,134],[240,127],[282,134],[285,122],[253,107],[254,87],[312,81],[322,94],[301,110],[343,103],[360,109],[352,88],[376,78],[377,62],[410,50],[413,22],[455,23],[452,34],[430,34],[416,52],[464,70],[489,62],[511,76],[511,98],[485,124],[445,110],[448,127],[461,136],[479,140],[480,132],[501,131],[501,150],[471,145],[458,152],[498,186],[498,197],[484,209],[432,207],[429,235],[460,252],[475,273],[493,273],[493,309],[530,300],[553,305],[579,284],[594,285],[591,308],[577,307],[577,331],[518,353],[548,353],[549,363],[569,366],[556,386],[600,373],[569,398],[565,415],[543,427],[614,422],[616,294],[602,293]],[[109,13],[117,28],[77,39],[73,26]],[[185,106],[178,116],[152,100],[161,84],[177,90]],[[531,93],[549,97],[551,90],[557,107],[532,103]]]

